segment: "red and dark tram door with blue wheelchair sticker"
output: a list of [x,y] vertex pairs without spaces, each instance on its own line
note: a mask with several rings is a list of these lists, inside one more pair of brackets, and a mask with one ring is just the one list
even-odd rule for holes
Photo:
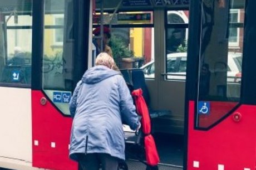
[[255,169],[255,1],[190,7],[184,167]]

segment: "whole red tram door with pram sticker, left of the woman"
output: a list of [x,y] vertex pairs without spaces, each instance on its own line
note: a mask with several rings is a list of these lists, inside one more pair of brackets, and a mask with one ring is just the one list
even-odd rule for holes
[[32,163],[77,169],[68,158],[68,102],[87,69],[90,1],[45,0],[33,6],[38,12],[33,24],[38,27],[33,30]]

